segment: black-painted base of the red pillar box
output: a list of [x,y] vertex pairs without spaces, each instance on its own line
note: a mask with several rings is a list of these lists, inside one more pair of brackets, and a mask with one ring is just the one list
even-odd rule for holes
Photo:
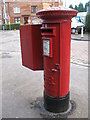
[[69,108],[69,96],[68,93],[65,97],[56,98],[49,96],[44,92],[44,107],[49,112],[53,113],[65,112]]

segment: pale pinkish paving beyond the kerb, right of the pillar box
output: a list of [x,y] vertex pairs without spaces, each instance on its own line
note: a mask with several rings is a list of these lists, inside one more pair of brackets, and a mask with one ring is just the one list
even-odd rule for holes
[[88,61],[88,41],[71,41],[71,62],[90,66]]

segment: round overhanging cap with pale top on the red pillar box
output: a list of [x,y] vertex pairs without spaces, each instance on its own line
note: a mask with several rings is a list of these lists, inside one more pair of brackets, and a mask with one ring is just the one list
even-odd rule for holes
[[77,15],[77,11],[65,8],[63,6],[58,7],[48,7],[46,9],[42,9],[36,13],[38,18],[41,18],[44,22],[47,21],[60,21],[62,19],[67,20]]

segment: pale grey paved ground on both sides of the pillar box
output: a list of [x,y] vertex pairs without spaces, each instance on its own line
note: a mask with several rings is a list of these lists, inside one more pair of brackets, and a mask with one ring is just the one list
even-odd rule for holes
[[[2,116],[42,118],[40,109],[30,107],[30,103],[43,96],[43,71],[34,72],[22,66],[19,31],[0,31],[0,36]],[[87,66],[88,41],[72,40],[70,91],[71,99],[76,102],[76,110],[69,118],[88,117]]]

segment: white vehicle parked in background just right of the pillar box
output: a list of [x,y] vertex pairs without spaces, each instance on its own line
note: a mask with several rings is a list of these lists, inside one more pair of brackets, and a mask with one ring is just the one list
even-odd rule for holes
[[81,33],[81,29],[85,31],[85,25],[82,22],[79,22],[75,17],[71,20],[71,33],[75,34],[76,30],[78,33]]

